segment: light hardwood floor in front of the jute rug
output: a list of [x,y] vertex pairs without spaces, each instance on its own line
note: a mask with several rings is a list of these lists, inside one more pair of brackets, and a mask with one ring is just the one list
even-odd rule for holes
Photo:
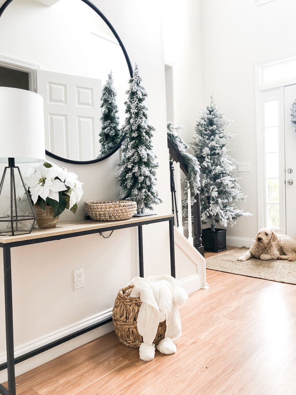
[[296,286],[207,271],[177,353],[143,362],[114,332],[17,377],[18,395],[295,395]]

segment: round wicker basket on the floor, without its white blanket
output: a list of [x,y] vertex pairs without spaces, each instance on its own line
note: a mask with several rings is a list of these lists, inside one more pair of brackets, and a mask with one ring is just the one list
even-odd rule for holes
[[[142,302],[139,297],[129,296],[134,288],[134,285],[128,285],[118,292],[113,307],[113,324],[115,333],[122,344],[139,348],[143,338],[138,332],[137,318]],[[165,322],[158,325],[154,344],[164,339],[166,329]]]

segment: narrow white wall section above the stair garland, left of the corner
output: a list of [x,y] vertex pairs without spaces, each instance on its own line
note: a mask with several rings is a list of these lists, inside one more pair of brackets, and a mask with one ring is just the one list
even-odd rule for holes
[[[173,67],[174,122],[191,141],[202,105],[200,0],[163,2],[165,62]],[[169,119],[168,119],[169,121]]]

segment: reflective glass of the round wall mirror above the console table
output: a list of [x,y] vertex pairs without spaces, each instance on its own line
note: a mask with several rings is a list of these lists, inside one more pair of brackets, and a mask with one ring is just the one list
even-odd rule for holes
[[118,41],[81,0],[14,0],[0,18],[0,86],[43,96],[54,155],[88,161],[118,145],[128,80]]

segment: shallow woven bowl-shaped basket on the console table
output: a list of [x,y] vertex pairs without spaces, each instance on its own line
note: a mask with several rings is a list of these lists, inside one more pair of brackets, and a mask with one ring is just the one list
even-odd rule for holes
[[129,200],[88,200],[86,213],[95,221],[128,220],[137,211],[137,203]]

